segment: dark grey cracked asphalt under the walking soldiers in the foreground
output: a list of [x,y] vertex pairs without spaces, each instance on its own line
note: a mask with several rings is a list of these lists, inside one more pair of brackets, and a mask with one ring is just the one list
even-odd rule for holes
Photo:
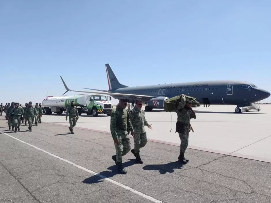
[[67,126],[44,122],[14,133],[4,117],[0,129],[0,203],[271,202],[268,162],[187,149],[190,162],[182,166],[178,146],[148,141],[144,163],[129,152],[121,175],[109,133],[76,127],[70,134]]

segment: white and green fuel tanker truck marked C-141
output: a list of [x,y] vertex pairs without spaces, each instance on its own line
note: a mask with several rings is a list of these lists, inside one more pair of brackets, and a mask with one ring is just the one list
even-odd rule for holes
[[74,101],[74,105],[78,109],[78,114],[86,113],[87,115],[98,116],[99,114],[106,114],[110,116],[112,110],[111,96],[102,94],[77,94],[74,96],[47,96],[42,100],[42,105],[45,109],[45,114],[50,115],[53,112],[62,114],[66,112]]

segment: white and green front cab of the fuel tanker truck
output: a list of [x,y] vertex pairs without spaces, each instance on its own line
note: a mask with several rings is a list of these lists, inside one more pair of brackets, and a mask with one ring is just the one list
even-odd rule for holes
[[87,100],[87,115],[98,116],[99,114],[106,114],[110,116],[112,110],[111,96],[101,94],[93,94],[88,96]]

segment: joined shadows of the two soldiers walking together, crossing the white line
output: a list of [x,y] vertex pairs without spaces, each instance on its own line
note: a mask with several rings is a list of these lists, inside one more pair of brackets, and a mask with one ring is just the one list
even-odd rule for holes
[[[124,162],[122,166],[123,168],[127,168],[134,164],[136,164],[135,159],[129,159],[129,161]],[[118,166],[116,165],[110,166],[107,169],[111,171],[102,171],[97,175],[84,179],[82,182],[86,184],[100,183],[104,181],[103,179],[112,178],[114,175],[118,174]]]

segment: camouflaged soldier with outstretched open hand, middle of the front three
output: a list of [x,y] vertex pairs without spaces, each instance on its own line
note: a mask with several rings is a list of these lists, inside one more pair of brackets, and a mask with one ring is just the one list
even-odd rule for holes
[[142,108],[143,102],[141,99],[135,101],[135,107],[129,111],[129,117],[131,124],[133,126],[133,140],[135,142],[135,147],[131,150],[135,156],[135,161],[143,164],[143,161],[140,158],[140,148],[144,147],[147,144],[147,133],[144,126],[148,126],[151,130],[153,129],[151,125],[148,124],[145,118],[145,111]]

